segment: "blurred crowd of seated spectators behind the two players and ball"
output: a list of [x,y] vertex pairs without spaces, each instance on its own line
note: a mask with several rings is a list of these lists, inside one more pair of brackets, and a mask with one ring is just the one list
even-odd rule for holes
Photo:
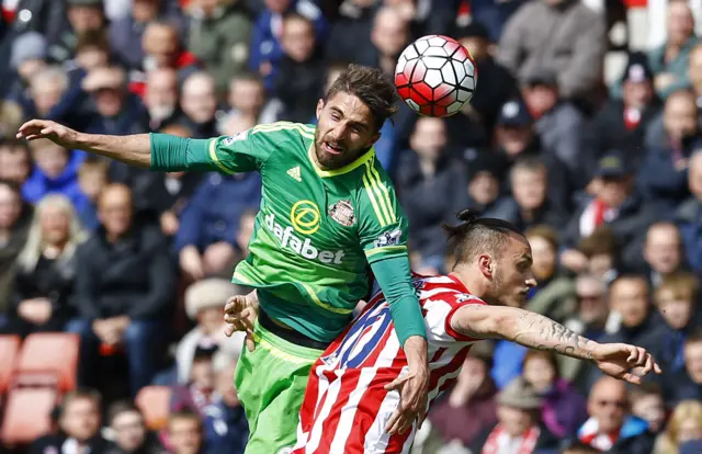
[[[480,343],[415,452],[702,453],[702,2],[692,0],[0,0],[0,353],[4,450],[244,451],[226,339],[258,174],[149,173],[48,141],[234,135],[315,122],[349,63],[388,75],[445,34],[479,68],[445,120],[403,106],[378,159],[412,265],[448,272],[471,207],[526,232],[526,308],[649,349],[643,387]],[[697,15],[697,21],[695,21]],[[695,25],[697,24],[697,25]]]

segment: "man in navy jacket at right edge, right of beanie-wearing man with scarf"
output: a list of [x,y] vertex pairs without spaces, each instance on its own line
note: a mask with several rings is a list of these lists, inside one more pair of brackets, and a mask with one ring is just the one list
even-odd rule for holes
[[698,117],[694,94],[672,92],[663,117],[667,140],[652,144],[644,154],[636,181],[645,200],[661,211],[672,211],[688,197],[689,159],[693,150],[702,148]]

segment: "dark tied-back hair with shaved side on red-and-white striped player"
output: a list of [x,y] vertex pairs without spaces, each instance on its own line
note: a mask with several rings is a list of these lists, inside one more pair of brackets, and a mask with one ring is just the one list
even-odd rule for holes
[[507,220],[478,217],[471,209],[458,212],[456,217],[463,223],[457,226],[442,226],[449,234],[449,249],[453,251],[455,264],[467,262],[478,253],[499,253],[507,246],[510,235],[526,241],[524,235]]

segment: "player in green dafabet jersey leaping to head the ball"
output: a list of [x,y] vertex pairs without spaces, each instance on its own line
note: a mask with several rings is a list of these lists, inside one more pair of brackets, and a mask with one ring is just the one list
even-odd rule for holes
[[261,173],[250,254],[233,277],[256,288],[260,304],[256,349],[245,349],[235,377],[251,432],[247,454],[275,454],[295,443],[310,366],[369,294],[371,271],[409,364],[403,404],[388,428],[423,418],[427,342],[410,279],[407,220],[373,150],[396,102],[395,87],[380,70],[352,65],[319,101],[316,127],[274,123],[197,140],[88,135],[33,120],[18,133],[155,171]]

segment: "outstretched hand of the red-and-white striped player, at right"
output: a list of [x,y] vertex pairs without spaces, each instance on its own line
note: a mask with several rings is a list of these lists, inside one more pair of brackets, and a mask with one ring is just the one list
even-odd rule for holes
[[592,351],[592,360],[607,375],[634,385],[641,385],[641,377],[650,371],[661,373],[650,353],[626,343],[600,343]]

